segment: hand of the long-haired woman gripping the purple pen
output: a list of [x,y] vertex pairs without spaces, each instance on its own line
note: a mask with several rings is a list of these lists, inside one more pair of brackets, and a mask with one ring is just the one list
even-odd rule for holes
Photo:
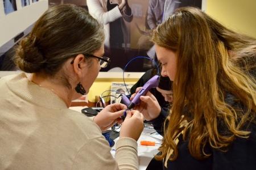
[[[136,89],[135,94],[131,95],[130,100],[133,100],[134,96],[137,94],[137,92],[139,92],[139,90],[141,90],[141,88],[142,87],[138,87]],[[158,100],[156,100],[155,96],[152,95],[150,91],[148,91],[145,96],[141,96],[140,99],[141,103],[135,105],[133,109],[141,112],[145,120],[150,121],[159,116],[161,107]]]

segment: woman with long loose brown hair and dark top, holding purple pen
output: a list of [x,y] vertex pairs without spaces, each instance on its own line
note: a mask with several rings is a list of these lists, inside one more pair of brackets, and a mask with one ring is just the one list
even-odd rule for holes
[[167,118],[150,92],[136,109],[164,128],[155,156],[163,169],[255,169],[256,40],[193,7],[176,10],[151,40],[174,99]]

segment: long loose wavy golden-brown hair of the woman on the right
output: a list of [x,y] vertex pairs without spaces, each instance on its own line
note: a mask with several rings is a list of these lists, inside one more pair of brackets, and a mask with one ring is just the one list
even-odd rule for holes
[[[184,132],[189,152],[203,159],[205,145],[225,151],[236,137],[247,138],[247,125],[255,123],[256,40],[235,33],[193,7],[179,8],[152,33],[151,40],[177,52],[177,70],[173,83],[174,102],[159,148],[164,159],[177,158],[175,135]],[[234,96],[245,106],[233,108],[226,101]],[[180,128],[181,116],[187,128]]]

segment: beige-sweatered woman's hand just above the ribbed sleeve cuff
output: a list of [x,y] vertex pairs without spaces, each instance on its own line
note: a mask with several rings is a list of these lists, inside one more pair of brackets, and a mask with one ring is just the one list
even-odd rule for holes
[[144,128],[143,115],[139,111],[126,111],[126,118],[123,121],[119,137],[129,137],[138,141]]

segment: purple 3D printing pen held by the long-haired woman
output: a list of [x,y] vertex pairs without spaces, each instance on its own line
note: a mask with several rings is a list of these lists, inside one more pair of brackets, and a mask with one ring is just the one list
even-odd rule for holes
[[141,101],[139,97],[144,96],[148,92],[148,90],[150,90],[151,88],[158,87],[158,83],[159,83],[159,76],[154,75],[151,79],[147,81],[147,83],[144,84],[141,90],[134,96],[133,100],[130,101],[128,97],[123,95],[122,96],[123,103],[127,105],[128,109],[133,108],[135,105],[137,105]]

